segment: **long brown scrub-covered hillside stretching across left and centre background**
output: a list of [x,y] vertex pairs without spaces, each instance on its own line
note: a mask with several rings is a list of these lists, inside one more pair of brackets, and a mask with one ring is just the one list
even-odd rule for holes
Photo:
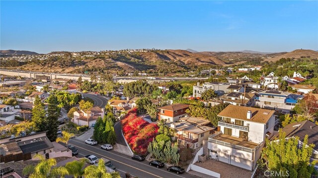
[[82,73],[83,71],[125,71],[152,70],[152,72],[185,72],[198,66],[225,65],[221,59],[185,50],[152,50],[149,52],[101,53],[95,57],[51,57],[44,60],[4,63],[0,67],[23,70]]

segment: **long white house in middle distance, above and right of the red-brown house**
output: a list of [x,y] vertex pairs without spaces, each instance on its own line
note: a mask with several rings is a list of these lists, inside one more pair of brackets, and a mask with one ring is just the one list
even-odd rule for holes
[[230,83],[220,83],[220,82],[205,82],[202,86],[198,82],[196,86],[193,86],[193,96],[194,97],[201,97],[201,94],[205,90],[212,89],[218,95],[224,95],[228,92],[228,87]]

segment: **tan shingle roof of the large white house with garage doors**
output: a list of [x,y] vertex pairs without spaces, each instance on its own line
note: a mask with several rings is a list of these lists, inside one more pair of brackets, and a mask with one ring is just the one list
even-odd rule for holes
[[[247,119],[246,117],[248,111],[252,112],[251,119]],[[274,113],[275,111],[272,110],[229,105],[223,111],[221,111],[221,113],[219,113],[218,116],[267,123],[267,121],[273,116]]]

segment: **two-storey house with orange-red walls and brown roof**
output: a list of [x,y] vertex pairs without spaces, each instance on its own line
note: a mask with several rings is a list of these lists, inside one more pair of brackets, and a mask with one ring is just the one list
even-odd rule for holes
[[167,122],[175,122],[183,118],[187,113],[185,110],[189,108],[187,104],[172,104],[158,108],[159,119],[166,119]]

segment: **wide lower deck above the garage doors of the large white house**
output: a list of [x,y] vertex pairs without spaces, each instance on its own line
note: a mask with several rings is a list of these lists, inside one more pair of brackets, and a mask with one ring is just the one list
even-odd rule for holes
[[257,144],[254,142],[243,141],[242,138],[237,138],[231,135],[222,134],[221,131],[211,135],[209,137],[209,142],[230,147],[230,148],[234,148],[237,150],[242,150],[249,153],[255,152],[263,144],[263,142]]

